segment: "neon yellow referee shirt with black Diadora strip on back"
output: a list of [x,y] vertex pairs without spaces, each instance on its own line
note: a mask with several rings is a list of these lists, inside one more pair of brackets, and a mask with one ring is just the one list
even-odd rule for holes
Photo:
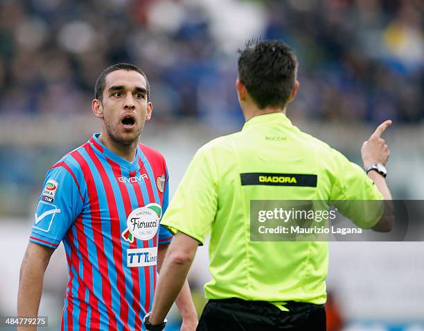
[[[308,174],[316,178],[316,185],[242,185],[243,173]],[[287,300],[325,303],[327,242],[250,241],[250,201],[267,199],[381,200],[382,196],[361,167],[276,112],[256,116],[240,132],[202,146],[161,224],[202,244],[211,235],[206,298],[263,300],[281,309]],[[362,228],[375,223],[357,220]]]

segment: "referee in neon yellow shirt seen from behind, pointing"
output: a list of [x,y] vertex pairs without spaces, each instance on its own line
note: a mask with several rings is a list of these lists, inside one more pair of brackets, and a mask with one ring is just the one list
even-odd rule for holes
[[[209,233],[209,302],[197,330],[326,330],[328,243],[250,241],[249,203],[391,200],[385,182],[389,149],[380,137],[391,121],[362,145],[364,171],[292,125],[285,110],[298,88],[297,59],[287,45],[250,42],[240,51],[236,89],[246,123],[197,151],[162,219],[176,237],[145,317],[148,330],[164,326]],[[267,176],[289,180],[270,185]],[[383,216],[364,228],[391,226]]]

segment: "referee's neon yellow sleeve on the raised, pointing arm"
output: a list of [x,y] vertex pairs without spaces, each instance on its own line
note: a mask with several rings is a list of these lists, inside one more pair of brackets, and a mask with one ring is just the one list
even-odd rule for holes
[[342,153],[332,150],[336,162],[330,200],[345,217],[360,228],[372,228],[384,213],[383,196],[371,178]]

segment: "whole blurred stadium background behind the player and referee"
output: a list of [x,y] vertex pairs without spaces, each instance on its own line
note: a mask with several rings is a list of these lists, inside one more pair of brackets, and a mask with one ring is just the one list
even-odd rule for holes
[[[0,0],[0,316],[16,314],[46,169],[99,130],[90,104],[102,69],[132,62],[148,75],[154,113],[142,141],[166,156],[172,196],[196,149],[243,124],[236,50],[251,37],[284,40],[300,62],[294,124],[360,162],[364,139],[393,119],[389,186],[423,200],[423,26],[421,0]],[[423,248],[330,243],[343,330],[424,330]],[[206,264],[200,248],[190,275],[199,307]],[[60,248],[40,307],[51,330],[66,282]]]

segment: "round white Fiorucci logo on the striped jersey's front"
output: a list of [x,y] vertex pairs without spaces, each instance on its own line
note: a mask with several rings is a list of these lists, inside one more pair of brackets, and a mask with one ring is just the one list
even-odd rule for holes
[[133,242],[134,237],[149,240],[156,235],[159,229],[162,208],[157,203],[149,203],[144,207],[133,210],[127,218],[127,228],[122,232],[126,241]]

